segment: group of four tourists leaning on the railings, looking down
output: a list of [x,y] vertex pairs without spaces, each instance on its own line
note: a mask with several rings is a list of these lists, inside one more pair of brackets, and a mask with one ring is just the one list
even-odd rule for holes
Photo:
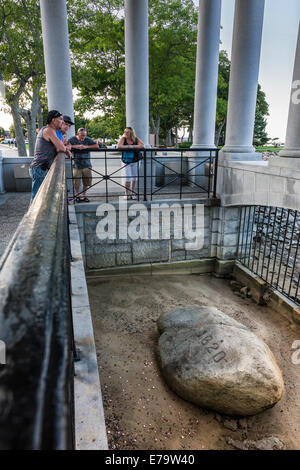
[[[92,184],[92,164],[90,150],[103,147],[101,142],[95,142],[87,136],[84,128],[79,128],[77,134],[70,139],[67,132],[74,125],[70,116],[62,115],[59,111],[49,111],[46,126],[40,129],[34,151],[34,158],[29,173],[32,178],[31,202],[45,179],[56,155],[65,153],[69,158],[73,154],[73,185],[76,202],[89,202],[86,191]],[[126,127],[117,148],[123,150],[122,161],[125,171],[125,199],[136,199],[135,185],[138,178],[138,161],[134,158],[133,149],[144,148],[143,142],[136,137],[132,127]],[[80,152],[79,152],[80,151]],[[126,158],[124,157],[126,156]],[[80,185],[82,182],[82,191]]]

